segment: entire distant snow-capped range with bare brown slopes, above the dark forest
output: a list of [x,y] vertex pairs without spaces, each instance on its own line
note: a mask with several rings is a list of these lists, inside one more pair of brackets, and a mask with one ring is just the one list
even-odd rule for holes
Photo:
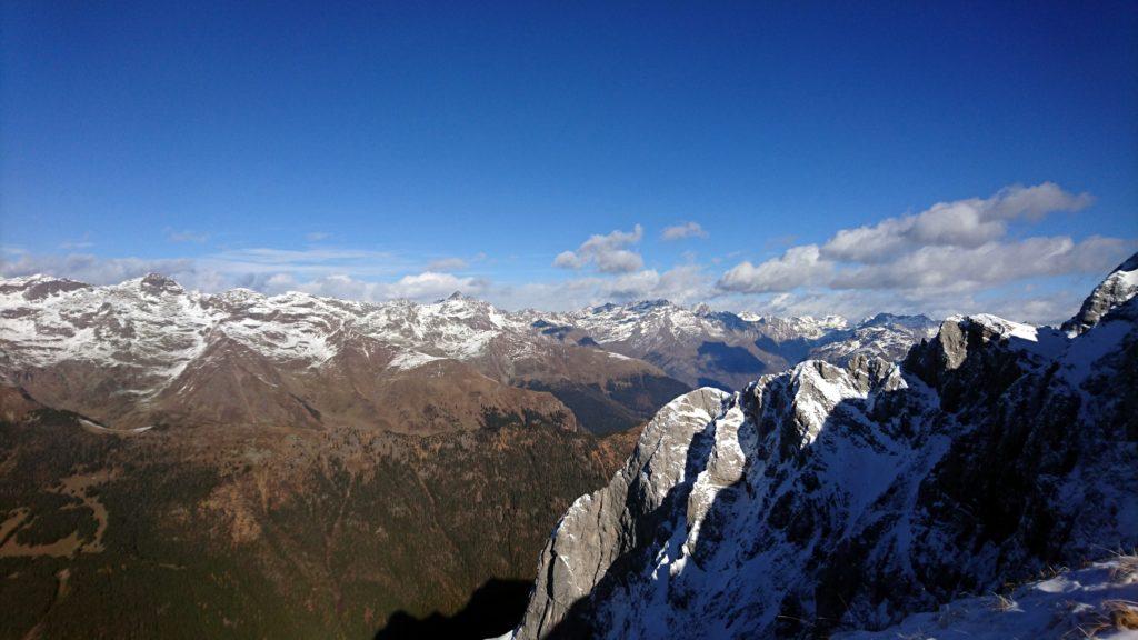
[[[435,430],[476,427],[488,409],[560,415],[569,427],[608,433],[642,424],[685,387],[741,388],[809,354],[897,359],[927,337],[921,322],[896,318],[855,328],[836,318],[749,321],[666,301],[510,313],[461,295],[431,304],[206,295],[158,274],[106,287],[2,280],[0,314],[0,378],[124,428]],[[446,402],[427,391],[446,383],[452,393],[440,395],[453,407],[437,413],[429,404]],[[454,400],[463,395],[472,400]]]

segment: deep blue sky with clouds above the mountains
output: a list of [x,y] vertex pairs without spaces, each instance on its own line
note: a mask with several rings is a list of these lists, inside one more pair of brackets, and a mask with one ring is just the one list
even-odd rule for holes
[[1049,321],[1135,251],[1133,2],[805,5],[8,2],[0,272]]

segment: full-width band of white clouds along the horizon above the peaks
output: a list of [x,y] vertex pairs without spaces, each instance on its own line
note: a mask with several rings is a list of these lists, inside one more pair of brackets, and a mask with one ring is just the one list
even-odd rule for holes
[[[162,272],[205,292],[247,287],[267,294],[386,301],[437,300],[455,290],[509,309],[563,310],[601,302],[668,298],[774,314],[923,312],[933,317],[990,311],[1017,320],[1055,322],[1075,311],[1085,285],[1138,248],[1135,238],[1028,235],[1057,213],[1094,203],[1053,182],[1014,184],[987,198],[940,202],[918,213],[835,229],[820,243],[785,248],[766,260],[742,260],[717,273],[724,259],[700,261],[685,251],[666,269],[645,268],[642,224],[594,233],[552,256],[568,277],[520,282],[492,277],[485,254],[421,260],[381,251],[308,246],[303,249],[224,249],[199,257],[108,257],[91,253],[44,255],[5,247],[0,274],[47,273],[96,285]],[[176,236],[176,238],[175,238]],[[316,241],[328,233],[310,233]],[[695,221],[660,230],[668,245],[703,240]],[[205,243],[207,233],[171,232],[178,241]],[[756,243],[761,245],[762,243]],[[72,245],[74,246],[74,245]],[[710,248],[714,241],[708,243]],[[754,254],[762,253],[761,247]],[[549,259],[547,259],[549,260]],[[737,260],[737,259],[736,259]]]

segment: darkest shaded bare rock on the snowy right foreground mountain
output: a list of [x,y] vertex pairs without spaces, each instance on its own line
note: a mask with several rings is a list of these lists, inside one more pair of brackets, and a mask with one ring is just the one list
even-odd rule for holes
[[[817,476],[810,469],[811,444],[797,451],[760,448],[744,453],[748,462],[776,460],[785,471],[798,475],[786,499],[762,516],[766,526],[780,531],[786,544],[799,549],[811,548],[815,538],[819,542],[808,563],[810,575],[798,584],[780,585],[785,592],[775,605],[776,637],[828,637],[841,629],[851,602],[891,610],[894,617],[898,612],[933,610],[962,593],[991,592],[1004,581],[1023,580],[1047,566],[1074,561],[1063,548],[1072,526],[1070,517],[1052,509],[1041,481],[1064,477],[1078,458],[1097,454],[1083,449],[1083,438],[1070,430],[1070,425],[1078,422],[1079,399],[1050,385],[1054,371],[1031,372],[1025,364],[1029,359],[1017,353],[1024,346],[1020,338],[987,345],[981,330],[966,327],[956,344],[943,348],[945,336],[915,345],[904,364],[909,387],[880,391],[872,403],[843,400],[826,418],[820,433],[844,433],[842,437],[851,441],[861,437],[858,430],[865,428],[859,415],[868,418],[873,428],[892,430],[890,437],[913,438],[913,420],[923,405],[907,404],[921,402],[920,379],[934,389],[941,403],[940,429],[954,420],[968,425],[953,435],[947,451],[925,475],[909,479],[915,485],[891,486],[875,500],[869,509],[882,514],[877,520],[867,520],[849,533],[828,530],[819,517],[826,512],[827,495],[818,491]],[[951,350],[958,350],[958,360],[949,364],[946,351]],[[1138,344],[1132,351],[1138,353]],[[1138,376],[1138,367],[1132,371]],[[744,407],[760,443],[770,434],[767,429],[792,426],[789,415],[770,422],[751,413],[752,409]],[[789,409],[777,410],[785,413]],[[1124,437],[1125,427],[1107,424],[1102,428],[1106,432],[1099,436],[1103,442]],[[792,435],[784,434],[783,440]],[[686,460],[688,479],[671,487],[658,510],[642,514],[633,523],[635,543],[615,559],[588,594],[570,606],[546,640],[599,635],[601,630],[593,627],[596,606],[642,580],[637,571],[648,566],[675,527],[683,526],[691,478],[703,470],[714,438],[714,429],[694,434]],[[701,543],[715,544],[732,534],[732,502],[750,490],[744,476],[717,493],[704,516]],[[633,498],[630,493],[629,500]],[[937,547],[915,539],[909,575],[872,557],[900,512],[920,516],[907,526],[942,532],[947,540]],[[960,559],[986,547],[1000,549],[1003,559],[981,571],[960,571]],[[749,552],[760,551],[756,547]],[[876,625],[890,622],[897,620],[877,621]]]

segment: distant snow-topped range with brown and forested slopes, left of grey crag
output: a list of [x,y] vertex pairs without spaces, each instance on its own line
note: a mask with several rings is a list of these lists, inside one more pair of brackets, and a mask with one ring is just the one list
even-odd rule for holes
[[0,637],[508,627],[558,516],[671,399],[930,327],[2,280]]

